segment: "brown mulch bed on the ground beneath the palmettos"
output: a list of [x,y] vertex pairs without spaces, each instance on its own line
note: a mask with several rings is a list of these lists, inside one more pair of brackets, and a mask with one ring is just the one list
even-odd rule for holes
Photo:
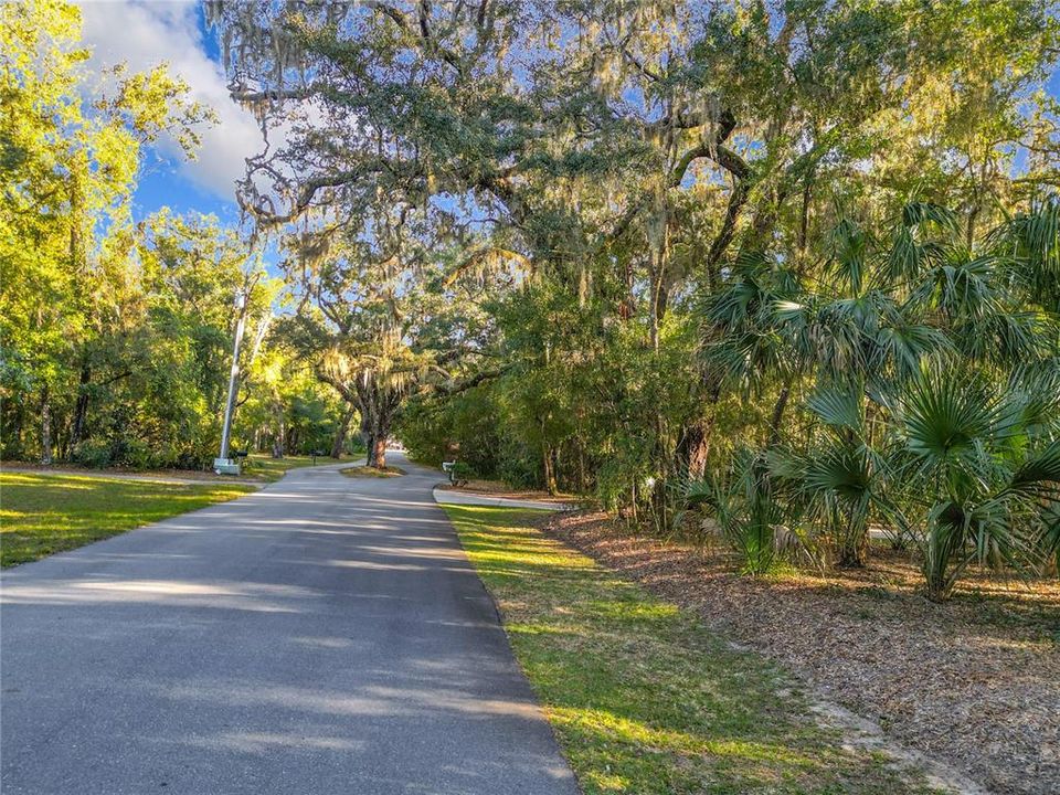
[[937,604],[909,553],[824,575],[740,576],[720,549],[628,534],[602,512],[547,532],[697,610],[824,698],[995,793],[1060,793],[1060,581],[973,574]]

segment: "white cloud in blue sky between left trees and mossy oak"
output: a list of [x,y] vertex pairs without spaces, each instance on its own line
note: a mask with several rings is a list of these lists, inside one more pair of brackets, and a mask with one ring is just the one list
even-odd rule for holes
[[[195,184],[232,201],[244,159],[263,148],[262,132],[253,115],[229,97],[221,65],[206,55],[195,3],[107,0],[80,4],[84,40],[93,49],[92,67],[124,61],[132,71],[144,71],[165,61],[188,83],[195,100],[214,109],[220,123],[202,130],[198,159],[182,162],[179,169]],[[161,141],[160,149],[180,160],[173,141]]]

